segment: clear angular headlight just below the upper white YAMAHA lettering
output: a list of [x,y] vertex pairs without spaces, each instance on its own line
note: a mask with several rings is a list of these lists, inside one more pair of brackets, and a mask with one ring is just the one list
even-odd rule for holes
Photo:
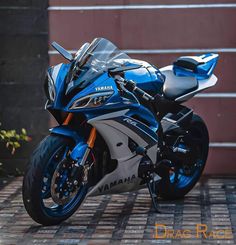
[[73,104],[70,106],[70,109],[75,110],[85,107],[98,107],[104,104],[111,97],[112,94],[113,91],[89,94],[73,102]]

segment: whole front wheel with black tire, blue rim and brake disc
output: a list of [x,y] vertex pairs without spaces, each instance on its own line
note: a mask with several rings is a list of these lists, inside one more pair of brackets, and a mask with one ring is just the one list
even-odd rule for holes
[[[87,194],[87,185],[72,179],[66,160],[73,142],[50,135],[33,152],[23,180],[23,202],[28,214],[42,225],[69,218]],[[81,175],[82,176],[82,175]]]

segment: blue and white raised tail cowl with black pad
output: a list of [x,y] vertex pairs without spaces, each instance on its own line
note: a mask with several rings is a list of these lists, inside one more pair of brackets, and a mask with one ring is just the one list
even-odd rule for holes
[[208,79],[217,64],[218,54],[203,54],[200,56],[183,56],[173,65],[176,76],[191,76],[198,80]]

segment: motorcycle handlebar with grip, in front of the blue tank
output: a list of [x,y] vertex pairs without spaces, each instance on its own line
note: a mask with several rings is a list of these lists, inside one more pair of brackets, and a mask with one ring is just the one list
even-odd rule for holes
[[139,97],[141,97],[144,100],[152,101],[154,100],[154,97],[150,94],[146,93],[144,90],[136,86],[136,83],[132,80],[125,80],[123,77],[116,75],[115,81],[119,84],[122,84],[128,91],[134,92]]

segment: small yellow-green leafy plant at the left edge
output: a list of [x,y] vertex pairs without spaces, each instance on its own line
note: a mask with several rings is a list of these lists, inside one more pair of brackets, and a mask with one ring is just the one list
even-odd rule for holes
[[[1,123],[0,123],[1,126]],[[24,128],[21,129],[21,133],[17,133],[16,130],[3,130],[0,129],[0,141],[6,144],[6,148],[11,150],[11,154],[14,154],[16,149],[21,146],[21,141],[30,141],[31,138],[27,135]]]

